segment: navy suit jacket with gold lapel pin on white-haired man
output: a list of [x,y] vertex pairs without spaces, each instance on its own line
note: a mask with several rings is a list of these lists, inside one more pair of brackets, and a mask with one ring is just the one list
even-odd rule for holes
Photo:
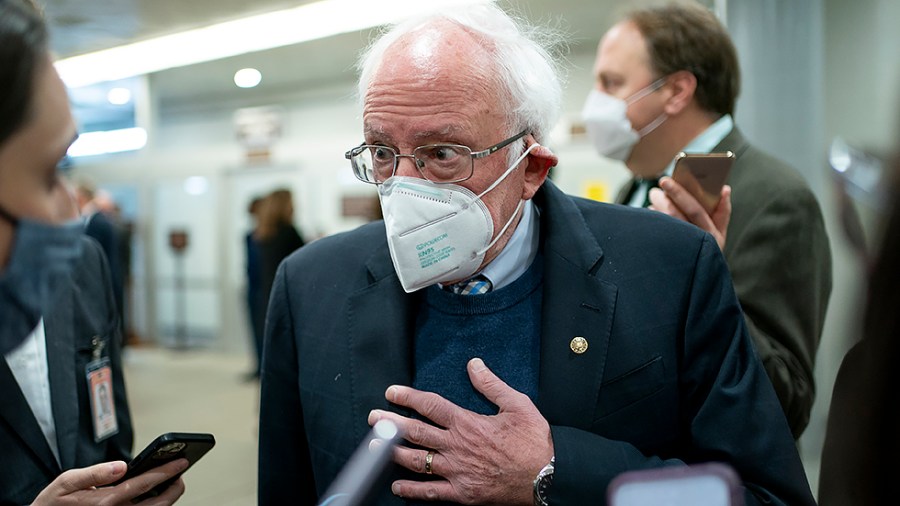
[[[551,504],[604,504],[626,470],[731,464],[748,504],[814,504],[712,238],[659,213],[547,182],[537,407],[551,425]],[[267,320],[260,504],[314,504],[412,382],[414,309],[384,225],[321,239],[279,269]],[[583,354],[573,337],[589,343]],[[461,364],[460,367],[464,367]],[[402,504],[385,489],[379,504]]]

